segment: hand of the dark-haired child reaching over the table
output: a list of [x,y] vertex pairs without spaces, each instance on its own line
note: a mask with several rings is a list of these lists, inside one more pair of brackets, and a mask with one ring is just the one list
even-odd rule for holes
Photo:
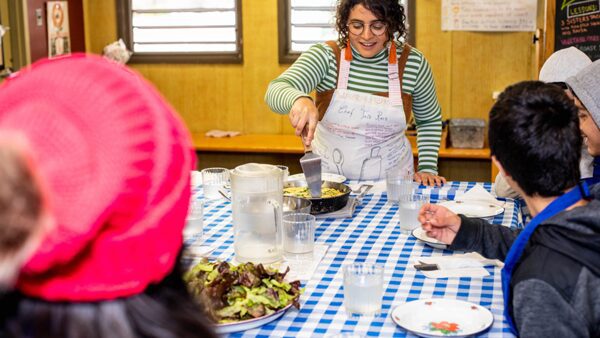
[[435,204],[425,204],[419,210],[418,220],[427,236],[445,244],[452,244],[461,223],[457,214]]

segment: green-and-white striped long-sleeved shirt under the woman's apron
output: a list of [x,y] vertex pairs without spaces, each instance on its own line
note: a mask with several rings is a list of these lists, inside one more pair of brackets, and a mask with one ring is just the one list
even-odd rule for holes
[[[402,48],[397,48],[398,60]],[[343,57],[343,56],[342,56]],[[348,89],[378,93],[388,91],[388,49],[372,58],[364,58],[352,49]],[[271,110],[287,114],[293,103],[307,93],[336,88],[337,62],[325,43],[312,46],[278,78],[271,81],[265,101]],[[429,63],[423,54],[411,49],[402,77],[402,92],[413,97],[413,115],[417,125],[417,170],[437,174],[437,160],[442,134],[442,114],[435,92]]]

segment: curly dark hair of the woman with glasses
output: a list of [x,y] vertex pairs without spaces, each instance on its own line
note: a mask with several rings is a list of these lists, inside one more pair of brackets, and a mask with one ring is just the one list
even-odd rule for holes
[[406,14],[404,7],[398,0],[340,0],[335,15],[335,26],[339,33],[338,44],[340,47],[348,43],[348,17],[356,5],[363,5],[373,12],[377,19],[387,25],[388,40],[400,39],[406,36]]

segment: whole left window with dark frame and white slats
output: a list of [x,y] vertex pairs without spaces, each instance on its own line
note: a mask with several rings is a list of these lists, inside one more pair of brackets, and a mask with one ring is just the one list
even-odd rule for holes
[[131,62],[241,63],[241,0],[118,0]]

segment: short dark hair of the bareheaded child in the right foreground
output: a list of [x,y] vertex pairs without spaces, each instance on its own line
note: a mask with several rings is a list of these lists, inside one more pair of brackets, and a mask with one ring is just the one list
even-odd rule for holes
[[490,111],[491,153],[529,196],[559,196],[578,183],[580,134],[577,108],[555,85],[509,86]]

